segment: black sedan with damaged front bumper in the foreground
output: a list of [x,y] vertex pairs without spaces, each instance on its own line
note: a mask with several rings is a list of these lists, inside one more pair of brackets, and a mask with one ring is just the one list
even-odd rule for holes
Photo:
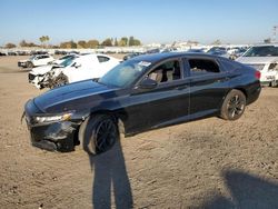
[[221,57],[200,53],[139,56],[98,81],[67,84],[24,107],[31,142],[47,150],[77,145],[96,155],[119,133],[219,116],[236,120],[260,94],[260,73]]

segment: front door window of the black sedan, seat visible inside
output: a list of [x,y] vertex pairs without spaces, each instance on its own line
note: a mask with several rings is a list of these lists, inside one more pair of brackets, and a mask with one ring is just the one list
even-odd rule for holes
[[181,78],[179,61],[171,60],[158,66],[148,74],[148,78],[156,80],[158,83],[179,80]]

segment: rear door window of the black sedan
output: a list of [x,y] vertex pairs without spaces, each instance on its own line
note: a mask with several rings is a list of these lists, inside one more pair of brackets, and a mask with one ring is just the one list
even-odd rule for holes
[[220,72],[217,62],[207,59],[189,59],[190,74],[198,76],[203,73],[218,73]]

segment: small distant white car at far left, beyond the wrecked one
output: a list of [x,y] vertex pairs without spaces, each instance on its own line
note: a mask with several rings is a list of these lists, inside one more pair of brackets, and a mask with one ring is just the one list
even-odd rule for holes
[[49,54],[39,54],[39,56],[32,56],[31,58],[27,60],[20,60],[18,61],[18,67],[22,68],[33,68],[38,66],[44,66],[49,62],[52,62],[54,58]]

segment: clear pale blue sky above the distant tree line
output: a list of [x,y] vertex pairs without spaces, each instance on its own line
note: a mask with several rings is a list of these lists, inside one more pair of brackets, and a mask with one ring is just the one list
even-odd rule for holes
[[130,36],[143,43],[256,43],[272,37],[277,9],[278,0],[0,0],[0,46],[40,43],[41,36],[52,44]]

